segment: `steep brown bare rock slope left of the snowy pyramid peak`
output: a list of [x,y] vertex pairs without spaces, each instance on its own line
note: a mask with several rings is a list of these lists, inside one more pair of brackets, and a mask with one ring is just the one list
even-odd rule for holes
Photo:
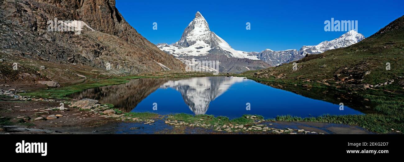
[[[159,50],[125,21],[115,0],[2,0],[0,4],[0,53],[101,69],[110,63],[113,73],[184,70],[181,61]],[[47,22],[55,18],[82,21],[88,27],[80,35],[48,31]]]

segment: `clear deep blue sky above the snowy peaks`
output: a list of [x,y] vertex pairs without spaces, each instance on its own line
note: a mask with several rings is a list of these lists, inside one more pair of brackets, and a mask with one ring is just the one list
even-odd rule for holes
[[211,31],[242,51],[299,50],[335,39],[345,32],[324,31],[331,18],[357,20],[358,32],[369,37],[404,15],[404,0],[116,0],[116,7],[155,44],[178,41],[199,11]]

